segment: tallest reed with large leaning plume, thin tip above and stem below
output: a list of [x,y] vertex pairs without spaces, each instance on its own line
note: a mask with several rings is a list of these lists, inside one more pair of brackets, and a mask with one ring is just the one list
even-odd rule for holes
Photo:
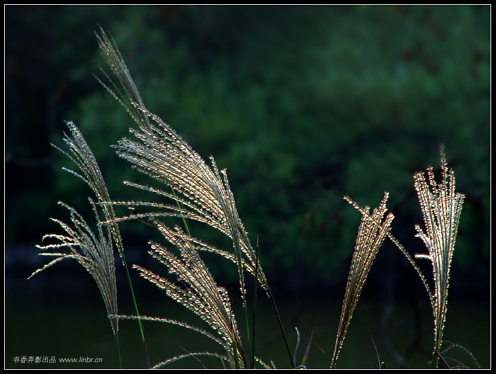
[[[227,251],[208,247],[221,256],[230,258],[237,265],[241,299],[245,311],[248,330],[248,312],[246,302],[245,272],[256,276],[258,283],[271,299],[273,309],[278,317],[277,307],[266,280],[266,276],[257,262],[257,255],[250,244],[248,233],[237,212],[234,195],[227,180],[227,172],[219,171],[213,157],[210,164],[196,153],[177,133],[157,115],[145,108],[141,95],[118,52],[115,42],[111,41],[103,30],[97,35],[100,52],[115,73],[125,92],[120,91],[109,75],[110,84],[105,88],[122,104],[138,124],[138,129],[131,129],[135,140],[122,139],[115,146],[118,155],[127,159],[134,168],[154,180],[158,180],[170,189],[163,190],[134,182],[125,184],[146,192],[165,197],[172,203],[152,203],[143,201],[113,201],[113,205],[127,205],[132,208],[145,208],[146,212],[137,212],[113,219],[115,223],[127,219],[151,219],[156,223],[159,217],[180,217],[191,243],[198,242],[191,236],[186,219],[205,223],[227,235],[232,242],[232,254]],[[110,221],[109,221],[110,222]],[[291,358],[289,345],[282,323],[278,318],[282,335]],[[249,336],[248,331],[248,336]],[[253,352],[252,352],[253,362]],[[291,358],[291,364],[294,366]]]

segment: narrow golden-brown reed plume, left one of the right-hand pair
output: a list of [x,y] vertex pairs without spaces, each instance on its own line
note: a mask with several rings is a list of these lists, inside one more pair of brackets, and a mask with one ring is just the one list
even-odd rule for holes
[[331,367],[335,368],[339,351],[342,348],[346,330],[353,317],[353,311],[358,303],[358,298],[369,274],[372,262],[381,247],[381,244],[390,231],[390,225],[394,215],[389,213],[385,219],[387,211],[386,202],[388,194],[384,194],[381,204],[374,209],[372,215],[369,215],[369,207],[360,208],[347,196],[344,197],[353,207],[360,211],[362,219],[358,227],[358,234],[355,242],[355,250],[351,258],[350,272],[344,292],[343,305],[339,318],[339,327],[337,329],[336,343],[334,348]]

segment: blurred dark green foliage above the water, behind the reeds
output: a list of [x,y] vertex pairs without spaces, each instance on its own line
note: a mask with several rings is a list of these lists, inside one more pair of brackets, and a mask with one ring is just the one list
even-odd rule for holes
[[[49,217],[65,217],[58,200],[89,212],[87,187],[61,171],[72,164],[50,146],[61,146],[64,120],[80,127],[115,200],[154,198],[122,185],[149,181],[110,147],[134,123],[93,77],[102,77],[101,24],[147,108],[227,168],[241,219],[253,242],[259,236],[280,290],[346,281],[360,215],[344,195],[374,207],[390,192],[392,232],[424,251],[414,237],[423,222],[413,173],[439,166],[443,143],[467,196],[450,292],[488,297],[489,6],[5,10],[7,259],[56,230]],[[125,232],[145,254],[143,226]],[[371,278],[382,283],[391,264],[406,267],[394,248],[377,261]]]

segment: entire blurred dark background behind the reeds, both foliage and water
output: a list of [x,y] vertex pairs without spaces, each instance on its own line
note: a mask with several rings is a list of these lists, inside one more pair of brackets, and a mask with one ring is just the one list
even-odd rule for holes
[[[148,181],[110,147],[134,123],[93,77],[102,77],[104,65],[95,38],[99,25],[115,38],[147,108],[200,155],[213,155],[227,168],[241,219],[253,242],[259,237],[290,340],[296,343],[298,327],[305,347],[315,325],[321,349],[312,348],[308,367],[326,367],[332,354],[360,220],[342,197],[374,207],[390,192],[392,232],[410,253],[425,251],[414,237],[422,216],[412,177],[439,165],[444,144],[457,189],[466,195],[445,338],[490,367],[490,6],[4,10],[6,367],[79,367],[13,361],[22,356],[104,358],[83,368],[117,363],[88,274],[64,261],[26,281],[45,260],[35,244],[58,229],[49,218],[67,218],[57,201],[91,217],[88,187],[61,170],[72,164],[50,146],[63,144],[65,120],[83,132],[115,200],[154,198],[122,184]],[[193,230],[223,245],[201,226]],[[122,231],[128,262],[153,266],[147,241],[157,234],[139,222],[123,224]],[[235,298],[232,267],[207,260]],[[118,276],[120,310],[132,313],[119,269]],[[134,283],[141,313],[186,318],[145,280]],[[264,303],[261,355],[285,367]],[[429,308],[415,272],[385,243],[338,366],[376,367],[374,339],[388,367],[428,367]],[[121,330],[124,366],[144,367],[135,324],[122,322]],[[145,332],[154,363],[201,349],[202,342],[180,329],[152,324]],[[447,355],[477,366],[461,349]],[[201,367],[193,359],[185,365]]]

